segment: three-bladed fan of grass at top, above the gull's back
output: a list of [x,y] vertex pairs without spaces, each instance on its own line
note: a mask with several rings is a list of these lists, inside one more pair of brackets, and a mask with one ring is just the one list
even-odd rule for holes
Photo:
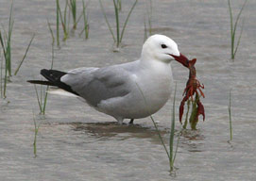
[[124,33],[125,33],[126,27],[128,25],[129,16],[130,16],[132,10],[135,8],[137,2],[138,2],[138,0],[135,0],[135,2],[133,3],[132,7],[130,8],[130,10],[128,12],[128,16],[127,16],[127,18],[125,20],[125,23],[123,25],[122,31],[120,33],[121,28],[120,28],[120,21],[119,21],[119,13],[120,13],[119,6],[120,6],[121,2],[119,0],[113,0],[114,14],[115,14],[115,25],[116,25],[116,32],[115,32],[115,36],[114,36],[113,30],[112,30],[111,25],[110,25],[110,23],[108,21],[106,12],[105,12],[105,10],[103,8],[103,5],[102,5],[102,2],[101,2],[101,0],[99,0],[100,8],[101,8],[101,10],[103,12],[105,21],[106,21],[106,23],[107,23],[107,25],[109,27],[109,30],[111,32],[112,39],[115,42],[116,48],[119,48],[120,43],[123,40]]

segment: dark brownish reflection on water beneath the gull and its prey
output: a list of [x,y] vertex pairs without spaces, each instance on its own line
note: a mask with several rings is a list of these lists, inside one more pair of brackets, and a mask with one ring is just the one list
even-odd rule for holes
[[[145,124],[107,123],[70,123],[72,129],[79,134],[87,134],[96,140],[128,140],[146,139],[155,144],[162,144],[154,127]],[[170,132],[167,128],[160,128],[162,138],[168,144]],[[189,152],[202,152],[204,136],[200,130],[178,130],[175,133],[175,144],[179,138],[179,148]]]

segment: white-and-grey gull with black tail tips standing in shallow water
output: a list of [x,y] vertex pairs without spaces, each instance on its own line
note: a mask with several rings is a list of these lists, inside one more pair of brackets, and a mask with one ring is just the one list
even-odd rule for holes
[[168,101],[174,87],[170,62],[188,61],[179,53],[175,41],[164,35],[149,37],[141,58],[108,67],[82,67],[68,72],[41,70],[47,79],[30,83],[58,87],[112,116],[122,124],[124,119],[145,118],[156,113]]

